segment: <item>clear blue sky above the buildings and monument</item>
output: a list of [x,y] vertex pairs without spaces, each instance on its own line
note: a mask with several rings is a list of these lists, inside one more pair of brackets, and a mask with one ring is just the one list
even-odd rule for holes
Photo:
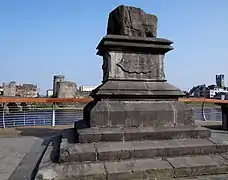
[[1,0],[0,83],[34,83],[44,92],[54,74],[63,74],[78,85],[98,85],[96,46],[120,4],[157,15],[158,36],[174,41],[165,59],[170,83],[188,90],[224,73],[228,85],[227,0]]

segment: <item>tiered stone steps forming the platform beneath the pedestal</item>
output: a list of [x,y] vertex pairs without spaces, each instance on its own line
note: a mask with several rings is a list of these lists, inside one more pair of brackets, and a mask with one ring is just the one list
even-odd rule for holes
[[[158,139],[153,137],[151,140],[150,136],[144,136],[142,140],[138,138],[142,129],[139,128],[137,132],[133,128],[128,131],[136,134],[131,141],[123,141],[121,138],[113,141],[108,139],[106,142],[97,139],[91,141],[91,136],[87,136],[90,143],[77,141],[80,140],[80,134],[95,132],[94,128],[74,129],[71,138],[75,134],[77,143],[69,142],[63,136],[57,146],[50,146],[41,161],[36,180],[227,179],[228,134],[224,131],[211,133],[211,130],[203,127],[192,127],[192,131],[190,127],[178,129],[166,130],[177,132],[175,134],[179,136],[165,136],[161,139],[160,131],[156,131]],[[186,131],[195,131],[194,136]],[[96,132],[110,135],[107,129]],[[183,134],[185,138],[182,138]],[[58,163],[51,161],[53,153],[58,155]]]

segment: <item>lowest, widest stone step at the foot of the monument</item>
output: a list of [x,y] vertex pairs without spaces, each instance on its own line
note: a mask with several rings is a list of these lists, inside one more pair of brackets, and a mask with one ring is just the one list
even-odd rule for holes
[[36,180],[162,180],[225,173],[228,173],[227,159],[220,155],[203,155],[167,159],[52,164],[39,169]]

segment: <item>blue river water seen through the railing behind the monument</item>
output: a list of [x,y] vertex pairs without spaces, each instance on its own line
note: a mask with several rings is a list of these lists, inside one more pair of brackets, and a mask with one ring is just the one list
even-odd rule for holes
[[[201,108],[193,108],[194,119],[203,120]],[[52,125],[71,125],[73,122],[82,119],[82,110],[37,110],[33,112],[17,112],[12,114],[0,114],[0,128],[18,126],[39,126]],[[208,121],[221,121],[222,113],[220,108],[205,108],[205,116]]]

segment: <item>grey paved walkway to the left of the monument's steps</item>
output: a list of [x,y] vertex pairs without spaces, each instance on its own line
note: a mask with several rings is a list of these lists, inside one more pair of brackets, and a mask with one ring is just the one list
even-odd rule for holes
[[0,180],[17,180],[22,171],[31,173],[48,139],[67,128],[70,126],[0,129]]

